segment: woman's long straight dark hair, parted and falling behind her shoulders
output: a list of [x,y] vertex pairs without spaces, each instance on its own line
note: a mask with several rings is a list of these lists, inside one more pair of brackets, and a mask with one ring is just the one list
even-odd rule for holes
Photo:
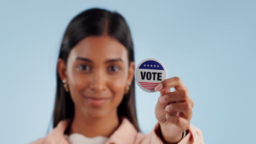
[[[80,40],[91,35],[107,34],[123,44],[129,57],[129,63],[134,61],[133,43],[131,32],[123,16],[117,12],[104,9],[89,9],[75,16],[65,31],[62,39],[60,55],[67,64],[67,58],[71,49]],[[135,82],[132,80],[130,90],[124,94],[124,98],[118,106],[118,116],[126,117],[139,131],[135,108]],[[63,119],[73,119],[74,103],[69,92],[65,91],[62,80],[57,73],[57,89],[53,112],[53,128]]]

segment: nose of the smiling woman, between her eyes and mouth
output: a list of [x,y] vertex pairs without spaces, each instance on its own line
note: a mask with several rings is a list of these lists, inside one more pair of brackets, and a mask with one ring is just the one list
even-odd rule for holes
[[102,70],[94,71],[90,77],[89,87],[92,91],[101,92],[106,89],[106,76]]

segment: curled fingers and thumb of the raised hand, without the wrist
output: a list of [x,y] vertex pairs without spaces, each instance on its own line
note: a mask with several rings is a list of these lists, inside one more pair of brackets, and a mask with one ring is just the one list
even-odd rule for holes
[[[175,88],[175,91],[170,92],[170,88]],[[189,97],[189,91],[181,79],[179,77],[166,79],[155,87],[155,91],[161,92],[157,104],[159,116],[166,119],[167,122],[187,130],[193,115],[194,102]]]

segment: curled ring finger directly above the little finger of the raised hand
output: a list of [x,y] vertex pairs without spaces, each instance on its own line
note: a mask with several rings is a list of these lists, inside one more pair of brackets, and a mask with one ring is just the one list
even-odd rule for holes
[[165,111],[172,116],[179,116],[186,119],[191,119],[192,117],[192,106],[188,102],[167,105]]

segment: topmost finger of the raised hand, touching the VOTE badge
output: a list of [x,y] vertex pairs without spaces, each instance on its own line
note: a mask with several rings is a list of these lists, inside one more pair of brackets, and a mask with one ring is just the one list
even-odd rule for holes
[[178,91],[180,89],[187,89],[179,77],[172,77],[160,82],[159,85],[155,87],[155,91],[164,91],[172,87]]

